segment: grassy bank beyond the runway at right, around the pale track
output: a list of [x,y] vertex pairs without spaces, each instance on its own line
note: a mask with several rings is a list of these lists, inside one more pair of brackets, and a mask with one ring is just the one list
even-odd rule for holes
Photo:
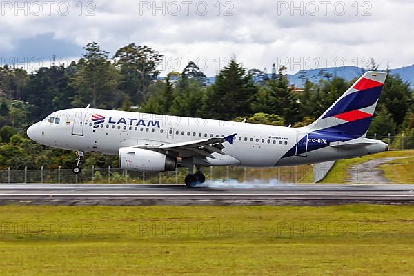
[[[366,155],[360,158],[357,157],[339,160],[335,163],[328,175],[326,175],[326,177],[319,183],[346,183],[346,180],[349,178],[348,170],[351,166],[362,164],[372,159],[388,157],[414,157],[414,150],[381,152],[375,155]],[[380,166],[380,169],[384,170],[385,177],[390,181],[394,181],[396,183],[414,183],[414,170],[410,169],[410,164],[413,163],[413,158],[398,159],[395,161],[389,161],[387,164]],[[401,164],[403,164],[403,166],[401,166]],[[411,166],[411,168],[413,167]],[[401,172],[404,172],[404,174],[401,174]]]

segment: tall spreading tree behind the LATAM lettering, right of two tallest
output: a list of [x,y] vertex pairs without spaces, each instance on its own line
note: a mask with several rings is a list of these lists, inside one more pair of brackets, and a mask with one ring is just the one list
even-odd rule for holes
[[148,87],[159,75],[157,66],[163,55],[148,46],[130,43],[115,53],[116,66],[121,72],[120,88],[134,103],[146,99]]

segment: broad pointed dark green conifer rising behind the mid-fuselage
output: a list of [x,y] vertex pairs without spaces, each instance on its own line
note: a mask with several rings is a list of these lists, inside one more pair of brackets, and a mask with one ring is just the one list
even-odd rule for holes
[[251,101],[257,92],[250,75],[232,59],[210,86],[203,99],[203,115],[212,119],[233,119],[251,112]]

